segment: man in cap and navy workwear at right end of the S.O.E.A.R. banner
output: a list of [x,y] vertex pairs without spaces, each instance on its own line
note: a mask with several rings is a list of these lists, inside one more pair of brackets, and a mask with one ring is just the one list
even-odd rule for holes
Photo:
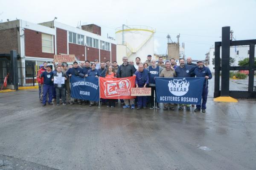
[[197,67],[195,68],[194,74],[196,77],[204,77],[204,86],[203,86],[203,94],[202,94],[202,104],[196,105],[195,112],[202,112],[205,113],[206,109],[206,102],[207,102],[207,95],[208,95],[208,79],[212,78],[212,73],[210,69],[204,66],[203,61],[197,61]]

